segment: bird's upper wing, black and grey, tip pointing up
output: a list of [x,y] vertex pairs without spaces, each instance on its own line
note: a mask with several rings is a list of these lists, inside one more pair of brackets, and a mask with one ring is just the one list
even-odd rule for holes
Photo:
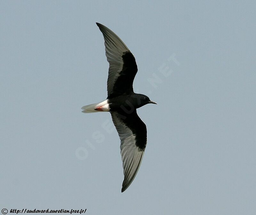
[[106,26],[96,23],[103,34],[108,69],[108,99],[133,92],[132,83],[138,71],[134,56],[123,41]]

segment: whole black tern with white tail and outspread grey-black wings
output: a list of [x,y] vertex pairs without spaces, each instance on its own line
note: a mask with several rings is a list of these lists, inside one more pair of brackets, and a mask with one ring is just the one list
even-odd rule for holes
[[109,63],[107,99],[82,107],[83,113],[110,112],[119,135],[124,181],[121,192],[132,183],[139,168],[147,144],[147,128],[136,109],[146,104],[157,104],[148,96],[133,92],[133,80],[138,71],[132,52],[109,28],[97,23],[104,37]]

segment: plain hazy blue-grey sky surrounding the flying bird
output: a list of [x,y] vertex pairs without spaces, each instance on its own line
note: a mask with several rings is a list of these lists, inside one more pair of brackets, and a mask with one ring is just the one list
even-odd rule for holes
[[[0,207],[91,215],[256,211],[255,1],[1,1]],[[99,22],[136,58],[148,129],[121,193]],[[175,57],[176,60],[173,60]]]

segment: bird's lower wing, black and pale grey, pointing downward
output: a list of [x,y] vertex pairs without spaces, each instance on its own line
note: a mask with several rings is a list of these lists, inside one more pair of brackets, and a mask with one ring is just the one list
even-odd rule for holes
[[137,115],[124,111],[110,112],[121,140],[121,156],[124,168],[122,192],[132,183],[137,174],[147,144],[147,128]]

